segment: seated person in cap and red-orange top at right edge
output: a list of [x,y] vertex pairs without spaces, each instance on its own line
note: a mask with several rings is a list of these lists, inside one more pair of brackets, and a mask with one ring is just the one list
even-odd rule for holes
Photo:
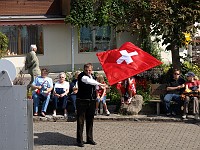
[[193,114],[195,115],[195,119],[198,119],[199,118],[198,92],[200,92],[200,81],[195,79],[195,74],[193,72],[188,72],[186,74],[186,77],[187,81],[185,83],[184,112],[182,118],[185,119],[187,117],[188,104],[190,101],[193,101]]

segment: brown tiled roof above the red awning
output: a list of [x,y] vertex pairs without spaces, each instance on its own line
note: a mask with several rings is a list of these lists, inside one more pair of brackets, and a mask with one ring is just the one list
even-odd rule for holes
[[62,0],[1,0],[0,15],[62,15]]

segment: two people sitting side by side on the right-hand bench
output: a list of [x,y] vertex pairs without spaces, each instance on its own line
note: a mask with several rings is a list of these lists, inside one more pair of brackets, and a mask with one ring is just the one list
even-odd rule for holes
[[[164,104],[167,116],[175,116],[177,113],[182,114],[182,118],[186,119],[188,115],[188,105],[193,104],[193,115],[195,119],[199,119],[199,92],[200,81],[193,72],[185,74],[186,80],[181,76],[181,71],[175,69],[173,77],[168,81],[167,93],[164,96]],[[170,102],[176,103],[171,108]],[[181,109],[183,108],[183,109]]]

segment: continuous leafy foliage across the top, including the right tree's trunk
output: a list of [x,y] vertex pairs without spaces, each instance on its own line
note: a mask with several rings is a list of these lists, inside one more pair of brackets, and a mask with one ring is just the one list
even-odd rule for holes
[[109,25],[119,32],[139,33],[144,49],[151,35],[161,36],[175,68],[180,68],[178,49],[185,46],[184,33],[193,35],[195,22],[200,22],[199,0],[72,0],[66,17],[74,26]]

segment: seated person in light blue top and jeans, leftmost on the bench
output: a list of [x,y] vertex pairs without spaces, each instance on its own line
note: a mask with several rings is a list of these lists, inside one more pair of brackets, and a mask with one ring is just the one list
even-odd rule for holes
[[33,91],[34,116],[38,115],[38,105],[40,100],[43,101],[41,115],[45,117],[45,113],[49,104],[51,90],[53,89],[53,80],[48,77],[46,68],[41,70],[41,76],[38,76],[33,81],[31,87]]

